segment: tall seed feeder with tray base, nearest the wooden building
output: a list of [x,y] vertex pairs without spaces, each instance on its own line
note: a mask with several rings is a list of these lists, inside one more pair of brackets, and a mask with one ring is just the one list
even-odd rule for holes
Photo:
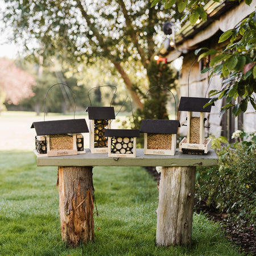
[[[179,144],[179,151],[187,154],[207,154],[212,146],[212,140],[205,139],[205,126],[207,120],[205,113],[209,113],[212,105],[204,108],[210,98],[181,97],[179,111],[187,111],[187,137]],[[196,115],[196,113],[200,113]]]

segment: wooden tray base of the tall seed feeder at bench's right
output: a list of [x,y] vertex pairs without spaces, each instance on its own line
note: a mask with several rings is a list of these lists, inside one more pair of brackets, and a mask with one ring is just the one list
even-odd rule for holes
[[212,139],[205,139],[204,144],[187,143],[187,138],[179,144],[179,151],[188,152],[189,154],[207,154],[212,146]]

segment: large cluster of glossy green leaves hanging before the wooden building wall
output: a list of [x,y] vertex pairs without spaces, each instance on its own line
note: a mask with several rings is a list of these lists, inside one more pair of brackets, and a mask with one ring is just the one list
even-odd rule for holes
[[[233,108],[234,116],[247,110],[250,102],[256,110],[256,12],[243,19],[235,28],[224,32],[218,43],[229,40],[229,44],[223,51],[200,48],[195,51],[199,60],[208,55],[214,55],[210,61],[210,68],[202,72],[210,72],[210,76],[223,77],[222,88],[211,90],[210,96],[214,96],[210,103],[226,98],[226,105],[222,107],[220,115]],[[236,100],[236,103],[232,102]]]

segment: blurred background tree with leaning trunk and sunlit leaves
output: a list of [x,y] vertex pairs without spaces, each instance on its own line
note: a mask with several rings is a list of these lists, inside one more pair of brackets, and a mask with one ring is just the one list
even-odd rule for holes
[[139,109],[143,104],[134,85],[146,91],[147,67],[160,46],[157,35],[162,24],[181,16],[176,8],[165,10],[160,4],[151,7],[149,0],[5,0],[5,3],[4,21],[14,28],[14,38],[23,40],[27,53],[43,56],[44,63],[55,57],[70,72],[76,72],[81,63],[86,68],[85,65],[107,59]]

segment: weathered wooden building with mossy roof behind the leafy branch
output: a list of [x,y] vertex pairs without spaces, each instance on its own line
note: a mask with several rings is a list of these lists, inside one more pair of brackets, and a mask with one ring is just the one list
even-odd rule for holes
[[[208,73],[200,73],[201,70],[207,66],[207,59],[209,59],[210,56],[207,57],[207,59],[201,59],[197,62],[195,50],[201,47],[216,50],[224,48],[225,42],[221,44],[218,43],[220,35],[234,28],[244,18],[249,16],[250,13],[255,11],[255,6],[256,0],[253,0],[250,6],[246,5],[245,1],[221,0],[220,3],[210,1],[204,7],[208,14],[208,18],[205,22],[199,20],[199,23],[196,23],[194,26],[191,26],[190,23],[185,24],[175,34],[175,47],[170,46],[168,49],[160,49],[159,56],[166,59],[167,63],[181,56],[183,57],[181,77],[179,80],[179,98],[181,96],[208,97],[210,90],[221,89],[222,79],[220,76],[214,76],[209,84]],[[171,39],[172,35],[169,37]],[[196,62],[194,63],[194,61]],[[224,135],[231,140],[232,133],[238,129],[243,129],[246,132],[256,130],[256,114],[250,104],[248,105],[246,113],[240,114],[237,118],[232,117],[231,111],[226,112],[220,117],[221,107],[224,105],[225,102],[219,100],[215,103],[215,106],[212,107],[211,112],[207,113],[206,118],[209,120],[210,128],[206,132],[216,137]],[[185,115],[185,113],[179,113],[181,123],[185,121]],[[181,127],[179,133],[184,135],[186,133],[186,127]]]

